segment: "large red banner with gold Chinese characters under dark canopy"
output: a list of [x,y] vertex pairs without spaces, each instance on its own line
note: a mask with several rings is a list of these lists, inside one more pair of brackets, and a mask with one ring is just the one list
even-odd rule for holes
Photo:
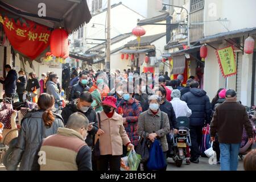
[[0,23],[14,49],[34,60],[49,46],[51,31],[48,27],[26,20],[26,23],[0,14]]

